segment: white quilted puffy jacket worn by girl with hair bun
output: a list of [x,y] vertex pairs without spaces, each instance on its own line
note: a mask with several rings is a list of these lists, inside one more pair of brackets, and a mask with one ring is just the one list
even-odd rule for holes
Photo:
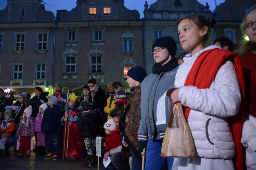
[[192,57],[186,55],[184,63],[178,68],[174,85],[181,87],[179,100],[182,105],[191,108],[188,124],[198,156],[227,159],[234,156],[235,144],[225,118],[236,115],[241,102],[234,64],[231,61],[224,62],[208,89],[184,86],[198,55],[213,48],[218,47],[209,46]]

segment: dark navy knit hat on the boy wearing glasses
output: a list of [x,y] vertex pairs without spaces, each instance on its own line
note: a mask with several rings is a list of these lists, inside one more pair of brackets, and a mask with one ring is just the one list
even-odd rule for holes
[[156,39],[152,45],[152,49],[155,47],[166,47],[167,51],[172,57],[175,57],[176,55],[177,45],[173,37],[165,36]]

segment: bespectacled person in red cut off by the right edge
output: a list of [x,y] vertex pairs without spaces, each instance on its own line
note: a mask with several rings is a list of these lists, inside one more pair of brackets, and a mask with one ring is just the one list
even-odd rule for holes
[[[252,6],[241,23],[242,34],[249,41],[241,40],[241,61],[245,76],[245,122],[241,143],[246,148],[247,170],[256,170],[256,5]],[[244,36],[242,36],[244,37]]]

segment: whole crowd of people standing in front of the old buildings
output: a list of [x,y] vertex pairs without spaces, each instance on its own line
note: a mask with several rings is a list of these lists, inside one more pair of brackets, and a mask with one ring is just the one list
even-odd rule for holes
[[[100,135],[103,158],[111,159],[104,166],[106,170],[141,169],[144,148],[146,170],[160,170],[165,162],[171,170],[173,161],[178,162],[178,170],[242,170],[245,164],[248,170],[256,169],[255,16],[256,5],[241,24],[242,33],[249,37],[241,43],[242,58],[231,52],[233,47],[221,42],[226,38],[206,46],[216,23],[214,18],[184,16],[178,21],[178,34],[182,48],[189,52],[177,59],[176,41],[172,37],[158,38],[152,45],[156,61],[152,73],[147,76],[141,66],[128,70],[129,97],[120,82],[113,82],[113,91],[106,99],[95,79],[83,86],[84,95],[78,98],[75,93],[65,96],[61,83],[56,83],[56,92],[48,97],[48,103],[41,96],[42,89],[36,87],[35,97],[29,102],[32,106],[22,91],[13,106],[7,106],[5,112],[0,110],[0,157],[5,155],[11,133],[15,133],[12,138],[18,156],[25,153],[29,157],[31,138],[36,135],[36,155],[45,155],[47,149],[45,159],[57,160],[62,155],[64,161],[72,162],[83,156],[84,146],[88,161],[83,166],[94,166],[95,155],[100,154],[95,141]],[[167,92],[169,98],[163,96],[173,85],[176,89]],[[166,106],[159,108],[162,98]],[[166,159],[160,155],[171,115],[167,105],[178,102],[185,107],[197,153],[193,158]],[[167,121],[159,124],[160,109]],[[99,140],[97,143],[101,146]],[[246,148],[245,164],[241,144]]]

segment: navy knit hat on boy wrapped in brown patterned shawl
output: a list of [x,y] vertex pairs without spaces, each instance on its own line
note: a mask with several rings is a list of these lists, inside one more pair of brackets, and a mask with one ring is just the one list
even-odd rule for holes
[[142,82],[145,77],[147,77],[147,72],[141,66],[135,66],[128,70],[127,76],[131,77],[132,79]]

